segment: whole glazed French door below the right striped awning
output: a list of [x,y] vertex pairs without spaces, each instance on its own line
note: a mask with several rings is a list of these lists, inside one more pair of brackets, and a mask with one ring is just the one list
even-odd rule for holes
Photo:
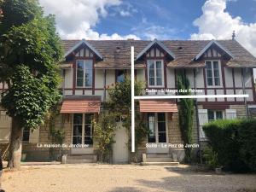
[[148,153],[169,152],[167,127],[167,113],[148,113]]

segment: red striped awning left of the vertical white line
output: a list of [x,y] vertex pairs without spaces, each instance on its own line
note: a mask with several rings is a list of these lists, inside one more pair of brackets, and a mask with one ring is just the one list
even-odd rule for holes
[[61,113],[100,113],[100,98],[66,98]]

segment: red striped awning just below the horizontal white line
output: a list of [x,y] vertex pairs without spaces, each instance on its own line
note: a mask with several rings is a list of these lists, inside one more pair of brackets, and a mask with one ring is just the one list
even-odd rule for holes
[[177,112],[177,104],[174,100],[140,100],[140,112]]

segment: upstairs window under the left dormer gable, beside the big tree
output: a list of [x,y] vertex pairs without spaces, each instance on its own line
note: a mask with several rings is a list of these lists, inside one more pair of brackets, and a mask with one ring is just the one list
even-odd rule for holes
[[77,86],[91,87],[92,86],[92,60],[77,61]]

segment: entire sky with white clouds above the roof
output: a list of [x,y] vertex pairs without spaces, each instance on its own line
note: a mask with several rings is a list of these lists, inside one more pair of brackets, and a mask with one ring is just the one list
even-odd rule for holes
[[256,0],[39,0],[65,39],[229,39],[256,56]]

